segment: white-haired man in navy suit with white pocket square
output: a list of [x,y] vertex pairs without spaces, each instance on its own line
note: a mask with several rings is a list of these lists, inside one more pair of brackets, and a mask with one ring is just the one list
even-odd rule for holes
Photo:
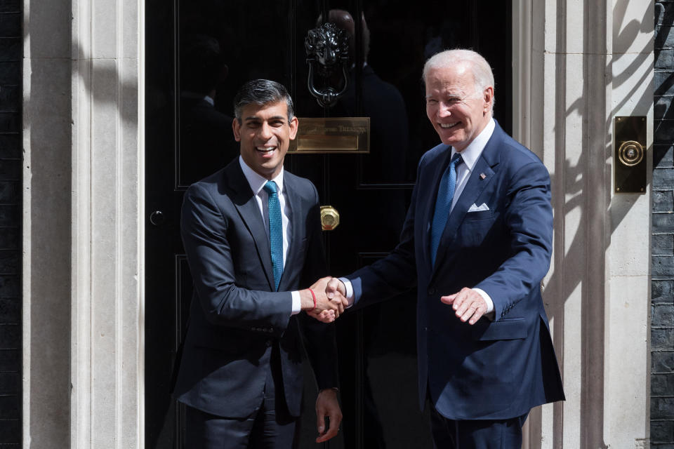
[[529,410],[564,399],[541,298],[553,237],[550,176],[492,118],[482,56],[438,53],[423,70],[441,145],[418,164],[400,242],[329,282],[355,307],[418,289],[419,405],[437,448],[519,448]]

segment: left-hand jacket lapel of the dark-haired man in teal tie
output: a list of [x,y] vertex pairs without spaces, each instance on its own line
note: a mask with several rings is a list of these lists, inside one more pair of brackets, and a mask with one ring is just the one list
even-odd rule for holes
[[265,229],[265,222],[262,220],[258,202],[251,191],[251,186],[244,176],[244,172],[239,165],[239,159],[234,159],[225,169],[224,175],[230,188],[235,192],[234,207],[237,208],[239,216],[244,225],[251,233],[255,248],[263,266],[263,271],[271,290],[274,290],[274,270],[272,269],[272,253],[269,243],[269,235]]

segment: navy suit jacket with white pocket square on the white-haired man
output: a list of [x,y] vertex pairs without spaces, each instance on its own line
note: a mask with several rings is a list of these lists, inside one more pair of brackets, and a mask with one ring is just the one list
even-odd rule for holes
[[[418,288],[419,404],[426,392],[453,420],[517,417],[564,399],[540,282],[553,238],[550,176],[535,154],[496,123],[430,262],[430,225],[451,149],[438,145],[418,165],[400,242],[387,257],[347,276],[357,306]],[[472,204],[489,210],[468,212]],[[462,323],[440,297],[481,288],[495,319]]]

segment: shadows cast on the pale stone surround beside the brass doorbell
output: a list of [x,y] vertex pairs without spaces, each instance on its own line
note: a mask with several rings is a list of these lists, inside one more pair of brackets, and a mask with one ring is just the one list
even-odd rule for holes
[[[564,10],[564,0],[558,0],[558,11]],[[645,83],[651,83],[652,76],[652,43],[641,49],[640,53],[621,54],[612,56],[612,60],[606,55],[603,39],[593,41],[592,36],[606,35],[604,29],[596,34],[588,33],[589,27],[606,21],[601,20],[607,13],[612,13],[614,23],[622,24],[626,20],[628,2],[617,2],[614,11],[607,11],[605,4],[594,0],[584,1],[583,17],[584,42],[583,42],[583,90],[569,107],[564,108],[567,95],[567,36],[564,26],[557,27],[557,60],[555,93],[557,98],[557,112],[555,123],[567,123],[571,116],[582,118],[582,127],[578,130],[582,136],[582,149],[577,162],[574,163],[566,157],[567,142],[565,133],[567,130],[555,128],[555,170],[551,176],[553,199],[559,201],[555,207],[555,242],[554,242],[554,268],[548,274],[544,295],[546,311],[555,326],[553,330],[557,358],[563,373],[564,355],[564,328],[573,326],[564,323],[564,309],[567,300],[577,288],[581,288],[581,391],[580,391],[580,429],[579,447],[581,448],[606,448],[604,443],[604,307],[606,305],[605,286],[603,276],[593,273],[604,273],[604,263],[592,264],[594,261],[603,261],[605,253],[611,244],[611,236],[619,227],[623,219],[629,213],[634,201],[619,201],[612,204],[612,122],[616,113],[626,114],[623,109],[626,105],[634,105],[634,114],[644,114],[645,105],[652,104],[652,89],[643,89]],[[664,10],[659,11],[660,18],[665,18],[671,25],[674,17],[674,4],[663,5]],[[640,34],[652,32],[651,10],[647,9],[644,17],[635,18],[626,23],[621,29],[621,34],[614,40],[619,42],[633,42]],[[656,17],[659,20],[659,17]],[[564,18],[558,20],[564,23]],[[610,34],[609,34],[610,35]],[[664,39],[664,36],[657,36]],[[615,67],[622,58],[630,58],[630,63],[614,74]],[[657,55],[656,55],[657,58]],[[650,67],[650,68],[649,68]],[[642,71],[640,79],[635,81],[635,74]],[[633,84],[633,88],[624,98],[612,108],[609,114],[593,114],[591,108],[607,104],[606,92],[616,91],[625,83]],[[663,83],[660,90],[667,90],[674,84],[674,76]],[[637,91],[643,91],[641,96]],[[656,92],[656,95],[658,93]],[[609,99],[610,100],[610,99]],[[595,173],[611,174],[597,179]],[[562,199],[564,199],[562,201]],[[565,227],[574,225],[576,234],[565,235]],[[571,239],[571,244],[567,241]],[[573,267],[564,269],[564,267]],[[601,281],[597,281],[601,279]],[[553,296],[554,295],[554,296]],[[576,316],[573,317],[576,319]],[[574,363],[575,364],[575,363]],[[568,380],[567,380],[568,381]],[[571,381],[573,382],[573,381]],[[567,398],[567,401],[571,398]],[[555,403],[553,417],[553,440],[562,444],[563,432],[563,404]],[[541,436],[541,410],[533,410],[529,420],[533,426],[530,434]],[[565,432],[564,432],[565,433]],[[533,441],[533,440],[532,440]],[[540,442],[540,438],[538,438]],[[576,444],[564,441],[564,445]],[[538,443],[540,444],[540,443]],[[540,447],[532,445],[531,447]],[[555,446],[557,447],[557,446]]]

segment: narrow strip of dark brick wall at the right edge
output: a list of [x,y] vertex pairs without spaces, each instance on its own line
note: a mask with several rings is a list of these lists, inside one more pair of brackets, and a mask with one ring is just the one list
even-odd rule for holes
[[655,5],[651,447],[674,448],[674,1]]

